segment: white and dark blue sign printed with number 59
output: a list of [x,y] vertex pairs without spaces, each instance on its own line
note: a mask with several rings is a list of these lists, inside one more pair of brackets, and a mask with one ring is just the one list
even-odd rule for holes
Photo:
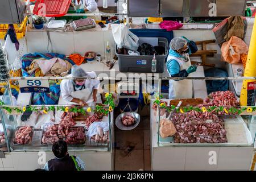
[[48,80],[19,80],[21,93],[49,93]]

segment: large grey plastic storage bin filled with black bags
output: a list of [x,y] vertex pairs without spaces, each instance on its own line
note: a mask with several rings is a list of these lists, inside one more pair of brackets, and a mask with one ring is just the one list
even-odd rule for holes
[[[156,59],[156,72],[163,73],[168,56],[168,40],[166,38],[158,38],[158,46],[165,48],[164,55],[155,56]],[[116,46],[115,46],[116,47]],[[115,49],[115,54],[118,57],[118,65],[120,72],[137,72],[137,73],[152,73],[151,61],[154,55],[151,56],[132,56],[132,55],[120,55]]]

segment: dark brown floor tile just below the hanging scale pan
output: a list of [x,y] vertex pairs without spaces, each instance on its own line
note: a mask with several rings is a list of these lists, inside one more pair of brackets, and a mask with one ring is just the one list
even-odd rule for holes
[[126,149],[133,147],[134,149],[143,149],[143,130],[115,131],[115,142],[117,149]]

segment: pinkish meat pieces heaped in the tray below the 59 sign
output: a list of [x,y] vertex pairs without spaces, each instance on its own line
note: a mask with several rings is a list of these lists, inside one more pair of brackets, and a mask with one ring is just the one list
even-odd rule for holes
[[15,131],[15,144],[30,144],[32,140],[32,127],[31,126],[22,126]]

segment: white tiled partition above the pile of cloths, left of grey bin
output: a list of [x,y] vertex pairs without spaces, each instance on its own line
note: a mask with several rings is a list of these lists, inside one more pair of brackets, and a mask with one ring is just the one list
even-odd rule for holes
[[[47,52],[48,38],[45,32],[28,32],[28,52]],[[37,35],[37,36],[36,36]],[[81,32],[50,32],[53,52],[70,55],[87,51],[105,54],[105,47],[109,41],[114,51],[114,38],[111,31],[81,31]],[[35,39],[34,39],[35,38]]]

